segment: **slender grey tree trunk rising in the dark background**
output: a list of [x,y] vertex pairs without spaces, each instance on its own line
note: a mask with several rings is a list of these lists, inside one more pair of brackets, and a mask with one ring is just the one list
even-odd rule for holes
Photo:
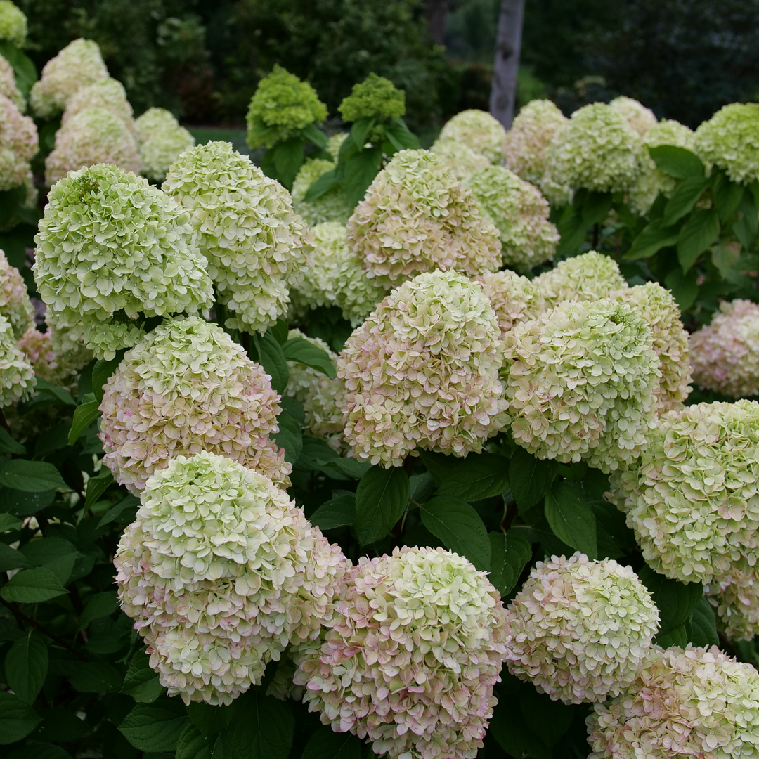
[[514,118],[523,18],[524,0],[501,0],[496,61],[493,66],[493,85],[490,89],[490,113],[505,129],[511,128]]

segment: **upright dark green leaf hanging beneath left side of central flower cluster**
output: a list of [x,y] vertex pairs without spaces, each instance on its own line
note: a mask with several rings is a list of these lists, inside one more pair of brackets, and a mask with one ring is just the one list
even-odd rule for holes
[[408,505],[408,474],[400,467],[373,466],[356,490],[354,527],[362,546],[374,543],[392,529]]

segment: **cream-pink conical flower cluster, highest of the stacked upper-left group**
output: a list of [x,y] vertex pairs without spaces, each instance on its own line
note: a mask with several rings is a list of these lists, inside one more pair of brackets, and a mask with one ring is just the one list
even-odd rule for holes
[[32,85],[29,102],[39,118],[52,118],[65,109],[77,90],[107,78],[108,69],[97,43],[74,39],[45,64],[39,81]]

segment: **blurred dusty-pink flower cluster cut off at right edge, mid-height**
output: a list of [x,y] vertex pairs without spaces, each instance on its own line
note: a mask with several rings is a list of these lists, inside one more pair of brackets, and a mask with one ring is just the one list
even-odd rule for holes
[[693,381],[732,398],[759,392],[759,306],[735,300],[691,335]]

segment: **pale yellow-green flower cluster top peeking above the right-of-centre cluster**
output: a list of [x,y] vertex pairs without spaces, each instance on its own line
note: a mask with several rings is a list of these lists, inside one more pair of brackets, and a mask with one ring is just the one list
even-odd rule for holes
[[609,298],[627,282],[610,256],[590,250],[581,256],[559,261],[553,269],[533,280],[546,300],[546,308],[564,301],[597,301]]

